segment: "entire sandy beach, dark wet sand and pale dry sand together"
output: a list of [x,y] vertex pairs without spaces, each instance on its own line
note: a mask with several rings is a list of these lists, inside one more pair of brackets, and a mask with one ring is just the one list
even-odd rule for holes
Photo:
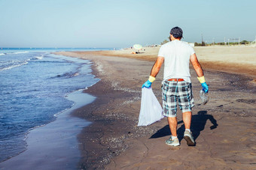
[[[131,49],[57,52],[93,61],[93,74],[101,79],[84,91],[96,100],[73,113],[93,121],[78,136],[82,154],[79,169],[255,169],[256,89],[251,83],[255,79],[255,49],[195,48],[205,70],[210,97],[207,105],[200,105],[201,86],[191,70],[196,102],[191,124],[195,147],[187,147],[182,139],[184,124],[180,111],[181,146],[164,143],[170,135],[166,118],[148,127],[136,126],[141,86],[148,79],[157,48],[146,48],[142,51],[145,53],[136,55],[130,54]],[[152,85],[160,103],[161,79],[163,68]]]

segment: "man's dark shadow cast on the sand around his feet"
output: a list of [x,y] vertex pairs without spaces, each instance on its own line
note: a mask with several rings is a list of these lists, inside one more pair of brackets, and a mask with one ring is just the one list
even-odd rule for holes
[[[215,129],[218,126],[215,118],[213,118],[212,115],[207,115],[207,111],[200,111],[200,112],[197,112],[197,115],[192,115],[190,129],[193,133],[195,141],[197,137],[200,136],[200,132],[205,129],[207,120],[212,122],[212,126],[210,127],[211,130]],[[178,124],[181,124],[181,123],[183,123],[183,121],[178,121]],[[185,130],[184,124],[182,124],[182,126],[179,127],[177,130],[179,141],[183,139],[184,130]],[[158,130],[157,133],[154,133],[154,135],[152,135],[149,139],[161,138],[163,136],[170,136],[170,135],[171,135],[171,132],[169,130],[169,125],[166,125],[162,129]]]

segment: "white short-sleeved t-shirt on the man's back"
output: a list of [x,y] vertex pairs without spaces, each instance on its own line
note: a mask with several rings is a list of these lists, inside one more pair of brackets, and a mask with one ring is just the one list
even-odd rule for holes
[[194,49],[187,42],[172,40],[160,47],[158,56],[164,58],[163,80],[184,79],[190,81],[189,62]]

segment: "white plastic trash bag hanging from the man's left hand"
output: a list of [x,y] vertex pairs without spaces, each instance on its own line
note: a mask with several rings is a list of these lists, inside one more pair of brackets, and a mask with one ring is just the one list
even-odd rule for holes
[[138,126],[148,126],[163,118],[163,109],[152,88],[142,88],[142,103]]

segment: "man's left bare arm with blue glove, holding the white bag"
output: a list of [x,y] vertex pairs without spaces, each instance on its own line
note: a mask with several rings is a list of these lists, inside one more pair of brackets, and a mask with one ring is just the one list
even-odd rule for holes
[[157,61],[154,63],[154,65],[151,69],[151,76],[149,76],[148,81],[142,85],[142,88],[150,88],[151,87],[152,82],[154,82],[154,80],[156,79],[155,77],[159,73],[159,70],[163,64],[163,61],[164,61],[163,57],[157,57]]

